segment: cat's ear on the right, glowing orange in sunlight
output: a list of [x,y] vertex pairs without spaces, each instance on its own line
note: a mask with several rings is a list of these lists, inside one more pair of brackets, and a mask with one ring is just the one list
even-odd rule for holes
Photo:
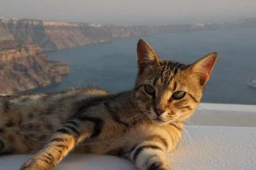
[[217,60],[218,53],[210,53],[208,56],[199,59],[199,61],[193,63],[191,66],[192,74],[199,78],[199,83],[201,86],[204,86],[209,77],[210,71]]

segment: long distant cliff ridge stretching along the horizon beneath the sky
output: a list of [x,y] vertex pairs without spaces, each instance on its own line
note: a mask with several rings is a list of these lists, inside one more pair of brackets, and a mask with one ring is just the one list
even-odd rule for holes
[[1,18],[0,40],[24,40],[36,43],[43,49],[63,49],[98,42],[109,42],[120,37],[236,27],[256,27],[256,18],[226,23],[141,26]]

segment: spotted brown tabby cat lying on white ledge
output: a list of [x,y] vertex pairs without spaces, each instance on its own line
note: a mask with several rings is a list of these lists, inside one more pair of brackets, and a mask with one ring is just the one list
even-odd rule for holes
[[20,167],[52,169],[69,152],[115,155],[139,169],[171,169],[178,145],[217,59],[211,53],[184,65],[162,61],[137,44],[135,87],[119,94],[77,88],[0,97],[0,155],[35,154]]

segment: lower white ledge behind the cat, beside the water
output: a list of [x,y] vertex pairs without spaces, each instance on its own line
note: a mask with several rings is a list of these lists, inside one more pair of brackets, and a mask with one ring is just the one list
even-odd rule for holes
[[256,127],[256,105],[200,103],[185,125]]

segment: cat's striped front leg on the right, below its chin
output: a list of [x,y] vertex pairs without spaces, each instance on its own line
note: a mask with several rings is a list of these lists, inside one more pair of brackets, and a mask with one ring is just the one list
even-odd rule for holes
[[141,170],[171,170],[167,164],[166,146],[158,142],[144,141],[130,150],[129,158]]

